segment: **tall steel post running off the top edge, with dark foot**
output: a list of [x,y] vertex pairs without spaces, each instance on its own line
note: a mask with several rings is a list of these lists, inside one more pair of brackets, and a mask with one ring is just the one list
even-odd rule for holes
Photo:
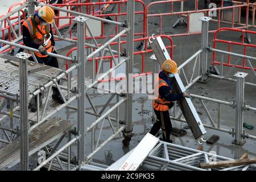
[[134,9],[135,0],[127,1],[127,26],[130,31],[127,32],[127,56],[129,60],[126,62],[126,77],[127,77],[127,123],[123,131],[123,145],[129,146],[133,134],[133,53],[134,53]]

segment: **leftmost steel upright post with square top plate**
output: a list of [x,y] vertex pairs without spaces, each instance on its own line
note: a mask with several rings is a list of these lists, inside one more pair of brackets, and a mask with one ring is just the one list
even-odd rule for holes
[[19,59],[20,170],[28,171],[27,59],[30,55],[20,52],[15,57]]

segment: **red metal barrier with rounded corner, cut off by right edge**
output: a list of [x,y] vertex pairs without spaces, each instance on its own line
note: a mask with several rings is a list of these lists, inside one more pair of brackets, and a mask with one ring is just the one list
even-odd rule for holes
[[[217,39],[217,35],[219,32],[224,32],[224,31],[232,31],[232,32],[241,32],[242,34],[242,40],[241,42],[234,42],[234,41],[230,41],[230,40],[222,40],[222,39]],[[246,55],[246,47],[252,47],[252,48],[256,48],[255,44],[247,44],[245,43],[245,34],[254,34],[256,35],[255,31],[249,31],[249,30],[240,30],[237,28],[219,28],[215,33],[214,33],[214,38],[212,40],[213,42],[213,48],[215,49],[217,46],[217,43],[225,43],[228,44],[228,52],[232,52],[232,45],[236,45],[236,46],[242,46],[243,47],[243,55]],[[256,50],[255,50],[256,51]],[[221,64],[220,61],[216,60],[216,52],[213,52],[213,61],[212,64]],[[246,66],[246,59],[243,58],[243,62],[240,65],[234,65],[231,63],[231,57],[230,55],[228,55],[228,62],[223,63],[224,66],[226,67],[236,67],[236,68],[242,68],[242,69],[251,69],[250,67]],[[254,68],[254,70],[256,70],[256,68]]]

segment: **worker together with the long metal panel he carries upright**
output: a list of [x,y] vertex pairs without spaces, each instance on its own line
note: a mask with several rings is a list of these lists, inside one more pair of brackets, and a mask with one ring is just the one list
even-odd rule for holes
[[163,139],[167,142],[172,142],[170,140],[172,125],[168,109],[171,109],[174,105],[173,101],[177,101],[195,139],[199,143],[205,142],[203,138],[207,131],[192,104],[190,94],[186,92],[183,82],[177,73],[177,64],[171,60],[160,36],[157,38],[153,36],[149,39],[149,42],[156,59],[162,64],[162,71],[160,71],[155,81],[156,97],[153,101],[153,107],[157,119],[150,133],[155,135],[161,127]]

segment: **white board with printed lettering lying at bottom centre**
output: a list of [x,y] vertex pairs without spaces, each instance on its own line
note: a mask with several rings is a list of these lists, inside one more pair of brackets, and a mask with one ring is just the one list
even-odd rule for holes
[[125,160],[118,171],[135,171],[146,159],[150,151],[158,143],[159,139],[147,133],[146,136],[139,142],[138,146],[134,148],[131,155]]

